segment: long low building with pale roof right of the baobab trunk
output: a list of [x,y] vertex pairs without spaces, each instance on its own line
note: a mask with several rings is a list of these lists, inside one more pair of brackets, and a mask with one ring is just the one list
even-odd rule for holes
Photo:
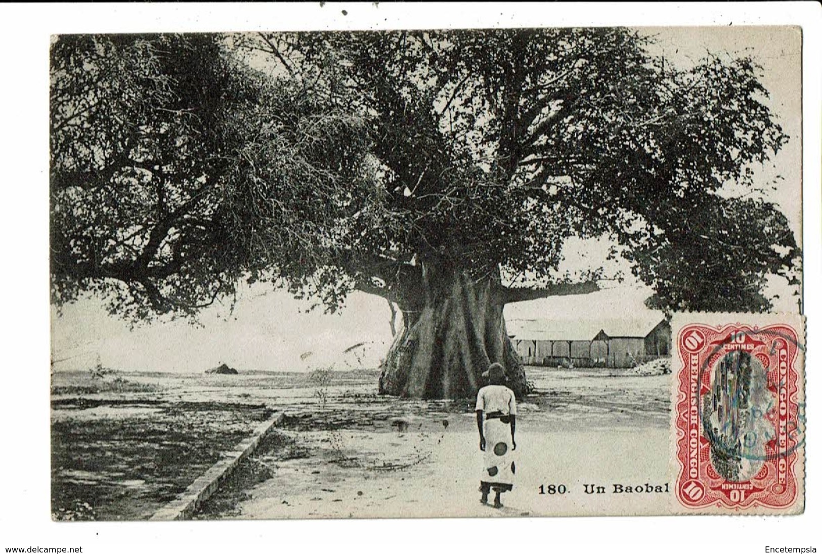
[[663,316],[602,321],[515,320],[514,348],[526,365],[634,367],[671,354]]

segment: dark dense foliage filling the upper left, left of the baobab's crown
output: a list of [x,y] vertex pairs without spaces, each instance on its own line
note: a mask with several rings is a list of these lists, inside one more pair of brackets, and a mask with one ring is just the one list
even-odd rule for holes
[[[91,291],[135,319],[194,314],[240,278],[325,265],[306,263],[304,238],[324,239],[331,202],[362,173],[344,147],[364,140],[357,119],[238,63],[215,35],[61,36],[51,81],[55,303]],[[238,248],[238,226],[278,265]]]

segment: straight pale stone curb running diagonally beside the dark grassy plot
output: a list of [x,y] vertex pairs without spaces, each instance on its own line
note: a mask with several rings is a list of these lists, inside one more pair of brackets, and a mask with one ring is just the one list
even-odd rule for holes
[[260,445],[260,441],[262,441],[274,427],[282,423],[284,418],[285,414],[280,412],[256,427],[252,436],[235,446],[234,450],[224,454],[222,459],[219,459],[216,464],[212,465],[205,473],[196,478],[176,499],[157,510],[155,515],[152,515],[149,520],[171,521],[173,519],[191,519],[197,508],[202,506],[202,503],[217,491],[219,483],[228,478],[234,469],[237,469],[237,466],[243,459],[252,455],[257,446]]

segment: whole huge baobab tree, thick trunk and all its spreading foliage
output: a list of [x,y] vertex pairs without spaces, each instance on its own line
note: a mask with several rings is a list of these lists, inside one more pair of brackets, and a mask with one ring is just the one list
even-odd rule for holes
[[759,67],[672,67],[648,44],[626,29],[61,37],[53,298],[92,289],[145,318],[194,314],[238,279],[332,311],[376,294],[402,313],[381,391],[426,398],[472,395],[489,362],[527,391],[503,308],[598,289],[598,270],[558,273],[570,237],[611,240],[654,306],[766,310],[769,275],[797,279],[797,243],[777,206],[723,193],[755,192],[787,141]]

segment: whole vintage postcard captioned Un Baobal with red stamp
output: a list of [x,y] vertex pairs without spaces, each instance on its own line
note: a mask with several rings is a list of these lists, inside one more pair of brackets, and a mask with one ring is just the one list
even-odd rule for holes
[[53,35],[52,518],[801,513],[801,54]]

